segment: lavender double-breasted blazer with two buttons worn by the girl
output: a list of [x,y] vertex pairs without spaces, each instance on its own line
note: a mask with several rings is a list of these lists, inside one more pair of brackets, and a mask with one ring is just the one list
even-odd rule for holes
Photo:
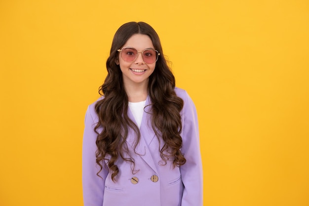
[[[100,172],[103,179],[96,175],[99,171],[99,166],[95,162],[97,134],[93,128],[98,122],[98,116],[94,111],[95,103],[89,105],[82,146],[84,206],[203,205],[203,174],[196,109],[185,90],[175,88],[175,91],[184,100],[181,111],[183,126],[181,152],[187,160],[186,164],[180,167],[173,167],[172,161],[167,161],[166,165],[160,164],[162,160],[159,140],[150,124],[151,114],[144,112],[140,127],[141,139],[136,147],[137,154],[134,152],[131,154],[135,160],[135,171],[132,173],[130,163],[122,159],[117,160],[119,173],[116,182],[112,181],[108,169],[103,168]],[[150,99],[147,98],[146,105],[149,104]],[[149,107],[145,110],[149,110]],[[130,110],[128,116],[135,122]],[[133,148],[134,140],[135,135],[131,130],[126,140],[129,148]]]

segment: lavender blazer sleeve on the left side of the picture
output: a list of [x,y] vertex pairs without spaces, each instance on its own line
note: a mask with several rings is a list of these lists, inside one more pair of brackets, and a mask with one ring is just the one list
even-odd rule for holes
[[103,165],[102,171],[96,164],[95,152],[97,150],[97,134],[94,132],[94,126],[97,123],[97,115],[93,105],[87,109],[85,116],[85,127],[82,142],[82,189],[84,206],[102,206],[104,196],[105,179],[108,175],[107,169]]

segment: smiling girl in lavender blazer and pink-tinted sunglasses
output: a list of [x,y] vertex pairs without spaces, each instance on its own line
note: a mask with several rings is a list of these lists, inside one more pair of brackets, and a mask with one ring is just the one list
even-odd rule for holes
[[84,206],[202,206],[195,106],[175,87],[154,29],[122,25],[106,66],[85,117]]

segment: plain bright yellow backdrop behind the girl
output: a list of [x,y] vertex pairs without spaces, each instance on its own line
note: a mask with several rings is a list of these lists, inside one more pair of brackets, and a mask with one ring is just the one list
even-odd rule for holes
[[1,0],[0,205],[82,206],[86,107],[151,24],[195,102],[205,206],[309,206],[308,0]]

